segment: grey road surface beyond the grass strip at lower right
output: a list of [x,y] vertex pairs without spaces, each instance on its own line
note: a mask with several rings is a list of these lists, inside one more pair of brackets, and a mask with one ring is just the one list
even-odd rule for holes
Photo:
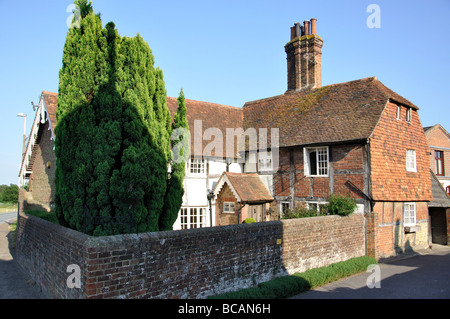
[[450,299],[450,247],[432,247],[421,255],[380,263],[379,288],[367,286],[368,280],[375,282],[372,270],[293,299]]

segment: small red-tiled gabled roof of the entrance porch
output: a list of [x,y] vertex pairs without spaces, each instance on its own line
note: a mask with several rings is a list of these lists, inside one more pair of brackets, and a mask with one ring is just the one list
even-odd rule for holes
[[257,203],[257,202],[271,202],[274,200],[270,195],[269,190],[261,181],[261,178],[256,173],[230,173],[224,172],[216,185],[215,194],[222,188],[223,182],[229,183],[228,186],[232,189],[235,195],[239,196],[240,202]]

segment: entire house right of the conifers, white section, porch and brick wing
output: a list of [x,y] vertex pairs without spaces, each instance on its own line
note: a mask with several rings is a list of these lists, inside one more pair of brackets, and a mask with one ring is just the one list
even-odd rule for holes
[[[319,208],[331,194],[342,194],[354,198],[366,218],[367,255],[382,258],[428,246],[433,196],[419,108],[376,77],[322,86],[322,45],[315,19],[291,28],[283,94],[242,108],[187,100],[194,157],[187,164],[192,175],[185,180],[179,228],[241,222],[244,210],[238,210],[246,202],[247,209],[268,209],[270,214],[260,215],[267,220],[298,205]],[[168,98],[172,114],[174,101]],[[199,119],[200,137],[195,131]],[[272,145],[268,136],[269,149],[263,152],[247,145],[239,154],[244,161],[226,158],[219,149],[205,156],[211,144],[204,142],[212,137],[207,129],[214,127],[223,136],[227,128],[277,129],[279,140]],[[250,190],[252,183],[258,186]],[[259,187],[270,198],[250,193]],[[211,189],[217,205],[207,222],[206,193]]]

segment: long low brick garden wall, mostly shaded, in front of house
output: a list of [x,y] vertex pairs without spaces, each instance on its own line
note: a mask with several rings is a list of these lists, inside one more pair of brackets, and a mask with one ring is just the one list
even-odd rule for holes
[[17,234],[16,260],[55,298],[205,298],[365,255],[362,214],[90,237],[20,213]]

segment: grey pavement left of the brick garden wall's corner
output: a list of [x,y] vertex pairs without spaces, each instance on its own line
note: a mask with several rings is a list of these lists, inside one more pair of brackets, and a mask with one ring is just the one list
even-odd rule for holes
[[9,226],[16,218],[17,212],[0,214],[0,299],[49,299],[11,255]]

